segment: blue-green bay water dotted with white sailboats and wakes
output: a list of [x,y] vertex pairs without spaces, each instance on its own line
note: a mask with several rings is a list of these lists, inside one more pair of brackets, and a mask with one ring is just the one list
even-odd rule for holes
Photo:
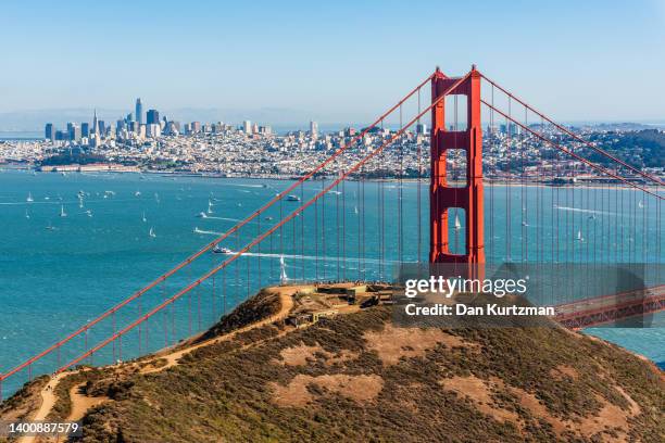
[[[0,372],[7,372],[26,357],[52,344],[57,338],[85,325],[149,283],[216,235],[250,215],[288,185],[283,180],[0,172]],[[240,258],[221,273],[215,282],[208,281],[178,301],[171,313],[164,312],[164,317],[155,316],[143,330],[135,330],[131,336],[123,338],[122,357],[156,350],[205,329],[225,309],[233,308],[261,286],[278,281],[280,255],[285,256],[289,278],[308,280],[387,279],[400,254],[404,262],[416,262],[419,250],[421,260],[426,260],[428,208],[425,183],[419,187],[421,217],[417,216],[418,186],[415,182],[404,183],[404,241],[401,246],[393,241],[398,237],[394,220],[399,195],[397,183],[379,187],[376,182],[367,182],[362,189],[356,182],[344,186],[337,189],[339,193],[329,194],[325,201],[310,207],[304,217],[296,217],[293,223],[276,231],[269,241],[266,239],[261,244],[261,249],[254,248],[251,251],[253,255]],[[298,194],[304,201],[321,187],[321,182],[312,182],[299,190]],[[83,203],[77,198],[79,191],[85,193]],[[381,225],[377,215],[381,211],[379,192],[385,194],[382,211],[388,216],[385,242],[381,242]],[[553,205],[551,202],[555,201],[555,192],[557,203]],[[491,197],[493,202],[486,207],[486,239],[488,243],[490,239],[493,240],[487,251],[488,260],[506,260],[509,251],[504,246],[504,239],[510,235],[513,239],[510,243],[517,245],[510,251],[512,260],[620,261],[632,257],[636,261],[663,263],[661,250],[656,246],[661,239],[655,236],[662,235],[662,231],[657,229],[661,221],[655,205],[647,200],[640,204],[645,221],[639,226],[630,226],[630,221],[622,220],[619,215],[625,212],[622,211],[624,205],[637,205],[638,199],[643,198],[641,194],[612,189],[578,190],[576,195],[562,195],[561,192],[565,194],[565,191],[549,188],[519,190],[488,187],[486,198]],[[26,201],[28,194],[33,202]],[[363,194],[364,199],[359,198]],[[340,195],[346,195],[342,206]],[[209,203],[213,205],[211,214],[204,218],[198,217],[200,213],[206,213]],[[281,206],[275,205],[264,216],[247,225],[238,237],[233,236],[222,245],[237,250],[298,204],[285,202]],[[509,206],[512,207],[510,212]],[[509,228],[502,220],[506,213],[514,214],[515,208],[517,213],[523,208],[524,214],[514,216],[513,226]],[[61,216],[61,211],[66,216]],[[325,226],[322,224],[324,212]],[[573,221],[577,219],[585,227],[582,235],[588,238],[592,235],[589,226],[598,226],[593,229],[593,236],[599,237],[600,250],[593,252],[587,246],[588,242],[576,242],[576,229],[562,228],[554,235],[551,224],[555,215],[557,223],[563,223],[566,217]],[[460,218],[463,225],[463,214]],[[528,223],[522,224],[523,218]],[[337,229],[338,219],[343,220],[343,230]],[[625,235],[624,231],[615,232],[617,220],[622,224],[625,221]],[[610,226],[613,228],[610,229]],[[149,235],[151,228],[154,237]],[[635,240],[644,238],[642,232],[648,233],[650,241]],[[346,236],[347,242],[338,243],[339,236]],[[362,249],[359,248],[361,237],[366,239]],[[453,248],[461,248],[456,244],[461,242],[457,237],[463,236],[451,235]],[[314,238],[321,241],[313,241]],[[626,238],[626,241],[619,240],[622,238]],[[316,261],[314,256],[324,258]],[[362,260],[359,261],[359,256]],[[147,294],[141,306],[118,313],[115,319],[117,326],[128,324],[222,260],[223,256],[205,254],[191,270]],[[166,322],[170,322],[167,327],[164,326]],[[595,328],[591,333],[655,362],[665,362],[664,316],[654,316],[654,325],[661,327]],[[77,350],[65,351],[63,347],[63,355],[58,355],[58,362],[53,355],[50,366],[36,366],[33,375],[52,370],[57,363],[67,362],[77,355],[77,351],[88,349],[114,330],[110,324],[99,329],[96,333],[91,331],[85,344],[83,337],[76,339]],[[108,363],[109,359],[116,359],[118,354],[120,351],[110,345],[100,351],[96,358]],[[24,379],[27,377],[25,375]],[[17,382],[5,385],[4,394],[16,385]]]

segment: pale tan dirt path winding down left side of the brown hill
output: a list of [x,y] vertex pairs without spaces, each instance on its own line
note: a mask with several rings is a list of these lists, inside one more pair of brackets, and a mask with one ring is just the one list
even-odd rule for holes
[[[298,290],[302,289],[302,287],[275,287],[275,288],[271,288],[272,290],[276,291],[279,294],[279,304],[280,304],[280,308],[279,312],[275,315],[272,315],[269,317],[266,317],[260,321],[253,322],[251,325],[247,325],[240,329],[236,329],[229,333],[226,333],[224,336],[219,336],[219,337],[215,337],[209,340],[205,340],[201,343],[197,343],[193,345],[189,345],[189,346],[185,346],[185,347],[179,347],[177,350],[174,350],[172,352],[168,353],[156,353],[154,355],[153,358],[150,358],[147,360],[147,363],[150,362],[156,362],[160,359],[166,359],[166,364],[159,366],[159,367],[147,367],[147,368],[142,368],[140,370],[140,374],[151,374],[151,372],[159,372],[162,371],[164,369],[167,369],[170,367],[176,366],[178,364],[178,360],[185,355],[188,354],[192,351],[196,351],[200,347],[204,347],[211,344],[215,344],[215,343],[219,343],[223,341],[227,341],[233,339],[234,337],[236,337],[238,333],[241,332],[247,332],[249,330],[255,329],[255,328],[260,328],[262,326],[265,325],[269,325],[273,324],[275,321],[279,321],[283,320],[284,318],[286,318],[289,314],[289,312],[291,312],[291,309],[293,308],[293,298],[292,295],[298,292]],[[141,363],[146,363],[146,362],[141,362]],[[113,365],[113,366],[120,366],[120,365]],[[55,377],[51,378],[51,380],[47,383],[47,385],[40,391],[40,396],[41,396],[41,405],[39,406],[39,409],[37,409],[37,412],[35,413],[35,415],[33,417],[30,417],[30,420],[43,420],[46,419],[46,417],[49,415],[49,413],[51,412],[51,409],[53,408],[53,406],[55,405],[55,401],[57,401],[57,396],[55,396],[55,388],[58,387],[58,384],[60,383],[60,381],[67,377],[71,376],[73,374],[78,372],[77,370],[75,371],[65,371],[65,372],[60,372],[58,375],[55,375]],[[80,418],[83,418],[83,416],[86,414],[86,412],[92,407],[92,406],[97,406],[103,402],[105,402],[108,398],[106,397],[89,397],[87,395],[80,394],[78,392],[78,389],[80,388],[79,385],[76,385],[74,388],[72,388],[71,392],[70,392],[70,398],[72,401],[72,413],[70,414],[70,417],[67,417],[67,420],[72,420],[72,421],[76,421],[79,420]],[[38,441],[46,441],[45,439],[39,439],[37,440],[37,436],[22,436],[17,440],[17,443],[33,443],[33,442],[38,442]]]

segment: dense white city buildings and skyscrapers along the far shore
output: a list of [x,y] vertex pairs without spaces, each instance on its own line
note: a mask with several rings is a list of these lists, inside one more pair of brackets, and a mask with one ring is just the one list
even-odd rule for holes
[[[93,112],[91,125],[88,122],[68,123],[65,130],[58,130],[48,123],[42,141],[0,143],[0,162],[48,164],[61,168],[67,165],[71,168],[76,164],[101,161],[142,170],[228,177],[293,177],[308,172],[313,164],[324,161],[341,147],[349,145],[351,154],[344,155],[346,163],[338,165],[346,168],[388,143],[380,155],[364,165],[365,176],[414,178],[426,176],[429,169],[430,135],[424,123],[414,125],[413,130],[397,139],[396,131],[389,128],[374,128],[361,139],[355,136],[363,128],[347,127],[322,132],[313,121],[306,131],[277,135],[271,126],[249,119],[240,125],[223,122],[183,124],[161,116],[155,109],[143,115],[142,106],[141,100],[137,99],[135,113],[117,119],[114,125],[98,119],[97,112]],[[594,157],[588,147],[567,138],[553,126],[534,124],[530,129],[593,161],[604,161],[602,156]],[[663,175],[662,155],[653,152],[665,147],[665,132],[662,130],[639,130],[620,125],[586,126],[576,130],[642,170]],[[575,175],[579,181],[601,180],[602,174],[597,169],[575,157],[562,155],[551,143],[514,124],[487,125],[482,140],[487,179],[557,182],[561,181],[559,177]],[[447,163],[451,180],[465,178],[465,159],[460,152],[451,151]]]

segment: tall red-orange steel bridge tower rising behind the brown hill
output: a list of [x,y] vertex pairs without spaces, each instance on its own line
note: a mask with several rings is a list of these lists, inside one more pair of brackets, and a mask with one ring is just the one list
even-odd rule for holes
[[[485,263],[482,218],[482,126],[480,123],[480,78],[475,65],[464,81],[448,94],[466,96],[466,129],[446,127],[446,98],[431,110],[431,179],[429,189],[429,263]],[[436,102],[460,78],[446,76],[439,68],[431,79],[431,100]],[[457,128],[455,128],[457,129]],[[446,159],[449,150],[461,150],[466,155],[466,186],[448,182]],[[464,210],[465,251],[453,253],[449,240],[449,210]]]

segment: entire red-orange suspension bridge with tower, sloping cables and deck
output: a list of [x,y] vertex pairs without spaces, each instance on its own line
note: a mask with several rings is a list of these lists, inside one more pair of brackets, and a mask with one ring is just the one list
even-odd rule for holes
[[[431,99],[423,104],[427,89]],[[418,144],[415,211],[405,214],[405,140],[407,130],[426,118],[431,123],[429,174]],[[399,121],[399,127],[367,149],[366,139],[389,121]],[[507,130],[499,134],[497,124]],[[534,141],[540,143],[536,159],[529,152]],[[388,150],[399,159],[392,181],[386,180]],[[503,173],[484,177],[486,151],[503,159]],[[426,176],[429,201],[423,202]],[[643,288],[598,293],[584,284],[566,291],[562,283],[549,291],[559,307],[556,319],[570,328],[655,313],[665,307],[657,273],[662,186],[658,177],[557,124],[475,66],[461,77],[437,68],[215,240],[43,351],[0,368],[0,400],[3,385],[13,391],[39,375],[116,363],[149,353],[155,342],[166,347],[178,337],[191,337],[206,326],[202,311],[210,309],[213,318],[217,309],[226,313],[228,288],[237,289],[240,273],[248,298],[284,280],[284,267],[275,266],[274,257],[312,261],[309,273],[302,264],[301,275],[290,276],[301,281],[366,280],[368,263],[378,265],[378,278],[387,280],[389,268],[406,261],[407,249],[416,251],[416,263],[474,269],[492,263],[569,263],[584,265],[572,274],[600,274],[603,263],[654,265]],[[378,212],[374,226],[365,217],[367,195]],[[428,220],[429,232],[422,220]],[[210,254],[221,245],[233,249]],[[330,261],[334,266],[325,263]]]

